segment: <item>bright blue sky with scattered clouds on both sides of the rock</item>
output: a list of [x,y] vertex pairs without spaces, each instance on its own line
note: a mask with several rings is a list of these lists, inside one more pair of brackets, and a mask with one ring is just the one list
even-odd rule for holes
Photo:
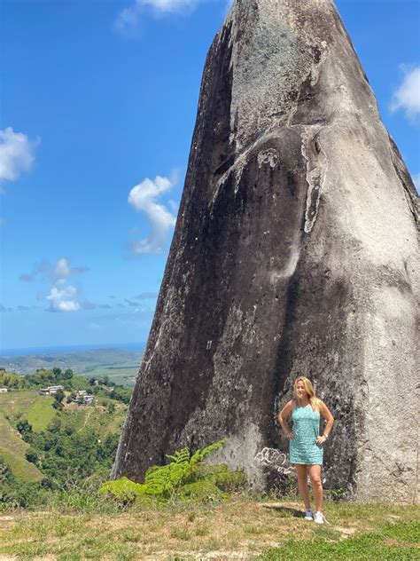
[[[337,0],[420,180],[420,2]],[[1,348],[144,342],[226,0],[2,0]]]

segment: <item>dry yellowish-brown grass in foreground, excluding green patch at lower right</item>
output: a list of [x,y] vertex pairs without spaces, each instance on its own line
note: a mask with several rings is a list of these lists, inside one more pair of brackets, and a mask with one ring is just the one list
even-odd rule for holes
[[291,539],[340,542],[375,530],[386,520],[419,518],[415,507],[335,503],[327,504],[325,514],[331,525],[320,527],[301,518],[298,503],[250,500],[183,511],[131,510],[113,516],[9,514],[0,517],[0,560],[252,559]]

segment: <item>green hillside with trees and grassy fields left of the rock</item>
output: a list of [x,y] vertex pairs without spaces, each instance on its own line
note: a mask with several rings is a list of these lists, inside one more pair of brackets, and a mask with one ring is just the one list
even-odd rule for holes
[[[64,387],[52,396],[40,388]],[[73,370],[54,367],[34,375],[0,372],[0,466],[3,473],[0,510],[34,507],[52,494],[109,474],[121,434],[130,391],[94,385]],[[95,396],[80,406],[72,396],[85,390]]]

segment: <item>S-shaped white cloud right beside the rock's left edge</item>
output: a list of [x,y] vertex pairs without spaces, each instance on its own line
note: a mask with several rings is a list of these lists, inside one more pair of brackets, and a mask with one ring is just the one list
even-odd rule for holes
[[136,210],[144,212],[151,222],[152,231],[147,238],[133,242],[136,255],[145,253],[162,253],[167,235],[175,226],[176,217],[157,200],[170,191],[173,183],[168,178],[157,176],[154,181],[146,178],[142,183],[133,187],[128,194],[128,202]]

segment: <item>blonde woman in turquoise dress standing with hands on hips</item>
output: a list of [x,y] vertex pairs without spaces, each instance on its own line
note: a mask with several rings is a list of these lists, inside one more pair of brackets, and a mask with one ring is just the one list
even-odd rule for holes
[[[334,417],[329,408],[316,398],[314,386],[305,376],[299,376],[294,383],[295,398],[291,399],[278,414],[284,434],[290,440],[290,462],[298,474],[299,494],[305,504],[305,520],[315,520],[323,524],[323,483],[321,466],[323,465],[323,443],[330,436]],[[286,419],[292,415],[292,431]],[[319,434],[320,418],[327,424],[323,434]],[[312,492],[315,498],[315,516],[309,502],[307,475],[311,478]]]

